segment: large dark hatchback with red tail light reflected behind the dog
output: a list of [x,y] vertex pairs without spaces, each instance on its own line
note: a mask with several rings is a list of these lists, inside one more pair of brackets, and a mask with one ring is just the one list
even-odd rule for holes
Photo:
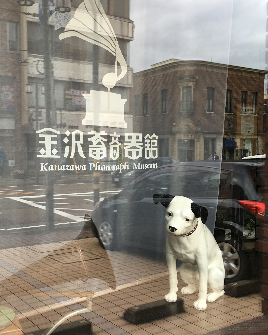
[[239,280],[256,270],[255,222],[256,216],[263,219],[265,212],[258,194],[263,169],[264,163],[253,161],[165,165],[98,203],[92,220],[107,249],[127,244],[130,248],[164,252],[165,208],[160,203],[155,205],[152,196],[186,196],[209,211],[206,225],[221,249],[225,281]]

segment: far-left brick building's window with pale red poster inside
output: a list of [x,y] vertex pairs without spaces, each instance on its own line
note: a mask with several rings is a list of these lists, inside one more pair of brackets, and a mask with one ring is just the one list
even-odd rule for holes
[[14,114],[14,78],[0,76],[0,110],[1,114]]

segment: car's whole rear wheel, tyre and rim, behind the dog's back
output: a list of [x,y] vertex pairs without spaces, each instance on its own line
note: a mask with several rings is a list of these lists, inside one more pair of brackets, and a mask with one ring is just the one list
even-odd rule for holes
[[244,279],[248,269],[247,259],[244,254],[237,251],[235,247],[227,242],[220,242],[218,246],[221,251],[225,270],[224,283],[228,284]]

